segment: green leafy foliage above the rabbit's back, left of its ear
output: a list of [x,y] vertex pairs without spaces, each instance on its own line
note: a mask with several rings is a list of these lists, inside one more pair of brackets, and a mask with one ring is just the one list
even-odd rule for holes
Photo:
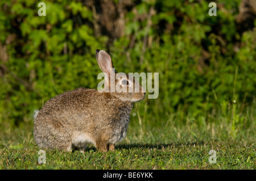
[[107,39],[94,37],[92,12],[81,2],[45,3],[47,16],[38,16],[37,1],[1,1],[1,43],[7,45],[9,57],[1,60],[8,71],[0,79],[0,123],[31,120],[31,111],[52,96],[97,86],[94,51],[105,49]]

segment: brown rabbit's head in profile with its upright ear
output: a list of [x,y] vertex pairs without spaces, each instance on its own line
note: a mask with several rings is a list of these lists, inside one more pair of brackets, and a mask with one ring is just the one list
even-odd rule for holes
[[127,102],[138,102],[144,99],[146,91],[134,77],[117,73],[113,62],[105,50],[96,50],[96,59],[100,69],[105,73],[104,92]]

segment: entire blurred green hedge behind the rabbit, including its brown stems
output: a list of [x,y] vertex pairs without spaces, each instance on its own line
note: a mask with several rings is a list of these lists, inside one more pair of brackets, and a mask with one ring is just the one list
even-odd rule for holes
[[159,73],[159,96],[135,104],[130,132],[255,134],[253,1],[216,1],[217,16],[212,1],[44,0],[46,16],[39,2],[0,1],[0,131],[31,128],[33,110],[57,94],[97,89],[104,49],[119,72]]

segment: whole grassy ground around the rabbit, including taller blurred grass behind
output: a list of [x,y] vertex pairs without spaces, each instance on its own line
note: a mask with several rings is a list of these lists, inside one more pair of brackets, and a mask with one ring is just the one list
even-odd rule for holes
[[[244,113],[232,106],[209,113],[207,119],[169,115],[154,121],[134,107],[127,137],[115,151],[101,153],[90,147],[84,153],[46,150],[46,164],[38,163],[38,146],[32,123],[1,127],[0,169],[255,169],[255,107]],[[140,114],[139,114],[140,113]],[[238,116],[237,116],[238,115]],[[183,122],[183,124],[181,124]],[[216,150],[216,164],[209,151]]]

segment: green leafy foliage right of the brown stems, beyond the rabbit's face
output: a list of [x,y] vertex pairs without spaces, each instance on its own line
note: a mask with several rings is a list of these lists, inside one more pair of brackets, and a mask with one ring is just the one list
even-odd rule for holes
[[[255,30],[245,32],[241,37],[238,34],[235,17],[239,3],[219,1],[218,4],[225,8],[217,9],[217,16],[209,16],[205,1],[200,4],[156,1],[158,9],[151,17],[149,30],[147,18],[135,21],[134,17],[142,13],[147,15],[152,4],[141,3],[136,7],[137,11],[127,14],[126,36],[116,40],[111,50],[122,55],[123,64],[130,60],[126,71],[159,72],[159,98],[146,100],[150,105],[147,113],[160,121],[168,119],[174,112],[183,111],[191,119],[200,120],[203,116],[207,121],[209,113],[224,101],[232,103],[236,100],[240,114],[245,103],[253,103]],[[177,12],[182,17],[177,16]],[[159,30],[161,27],[163,31]],[[127,49],[127,38],[131,35],[135,37],[134,47]],[[148,44],[142,52],[144,37]],[[234,51],[235,41],[242,44],[237,53]],[[209,52],[205,60],[203,49]],[[143,62],[138,64],[142,57]],[[187,116],[180,117],[184,119],[183,123]]]

